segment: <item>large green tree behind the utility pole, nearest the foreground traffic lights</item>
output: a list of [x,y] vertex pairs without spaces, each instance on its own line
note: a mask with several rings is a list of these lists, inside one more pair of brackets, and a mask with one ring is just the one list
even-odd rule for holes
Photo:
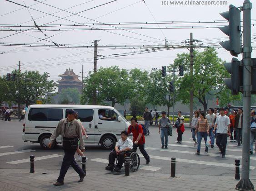
[[[189,104],[191,83],[194,85],[194,97],[203,105],[204,112],[207,110],[206,95],[219,95],[226,90],[223,78],[229,77],[224,64],[217,56],[214,48],[206,48],[203,52],[194,51],[194,76],[193,81],[189,76],[190,54],[177,54],[174,61],[176,68],[184,66],[184,77],[178,80],[178,99],[183,104]],[[177,83],[176,83],[177,84]],[[214,93],[212,93],[214,92]]]

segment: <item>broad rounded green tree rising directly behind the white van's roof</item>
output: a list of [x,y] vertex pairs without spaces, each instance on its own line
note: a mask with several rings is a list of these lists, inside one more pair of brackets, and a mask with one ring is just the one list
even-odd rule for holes
[[81,97],[81,103],[92,103],[93,91],[97,91],[97,102],[111,102],[112,107],[116,103],[123,104],[131,93],[131,84],[129,83],[129,74],[127,70],[120,69],[117,66],[100,67],[95,72],[89,72],[85,77],[85,87]]

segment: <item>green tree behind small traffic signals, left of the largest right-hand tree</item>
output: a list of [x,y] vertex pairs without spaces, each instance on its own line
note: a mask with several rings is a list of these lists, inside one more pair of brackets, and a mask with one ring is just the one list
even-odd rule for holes
[[152,105],[167,106],[167,116],[169,117],[170,107],[173,105],[173,95],[169,91],[170,75],[161,76],[161,71],[151,72],[146,83],[146,103]]

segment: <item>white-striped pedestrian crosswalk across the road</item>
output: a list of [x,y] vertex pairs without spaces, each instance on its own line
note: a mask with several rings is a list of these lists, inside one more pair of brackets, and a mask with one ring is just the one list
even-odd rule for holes
[[[200,153],[201,158],[196,158],[194,153],[196,151],[196,147],[193,147],[194,142],[192,141],[182,141],[182,144],[178,143],[170,143],[168,144],[169,148],[168,149],[162,149],[160,147],[146,147],[146,151],[150,155],[151,163],[149,165],[140,165],[141,170],[146,170],[146,171],[152,171],[152,172],[157,172],[163,166],[161,166],[162,162],[168,161],[171,162],[171,158],[175,157],[179,154],[179,157],[176,157],[176,162],[181,163],[181,164],[186,164],[186,163],[192,163],[192,164],[201,164],[201,165],[206,165],[206,166],[213,166],[213,167],[226,167],[226,168],[235,168],[234,164],[234,159],[238,158],[241,159],[241,147],[234,148],[234,144],[229,144],[227,145],[227,153],[226,153],[226,158],[225,160],[221,160],[221,155],[218,154],[218,148],[215,145],[215,148],[209,148],[208,153],[204,153],[204,143],[202,142],[201,150],[202,152]],[[8,148],[9,152],[2,152],[5,148]],[[11,157],[9,157],[10,161],[5,161],[9,165],[19,165],[21,163],[25,162],[30,162],[30,154],[33,154],[32,152],[35,152],[35,150],[32,149],[25,149],[25,150],[19,150],[19,151],[11,151],[11,149],[14,149],[15,147],[11,145],[2,145],[0,146],[0,161],[2,161],[3,157],[5,156],[11,156],[11,155],[19,155],[21,153],[28,153],[27,155],[22,155],[23,157],[26,156],[25,158],[20,158],[20,160],[11,160]],[[5,149],[6,151],[6,149]],[[144,160],[143,155],[138,151],[139,156],[141,158],[141,163]],[[93,154],[93,153],[92,153]],[[35,161],[40,161],[40,160],[47,160],[50,158],[59,158],[58,160],[62,160],[60,158],[61,154],[48,154],[45,156],[40,156],[40,157],[35,157]],[[107,155],[108,156],[108,155]],[[105,158],[95,158],[93,156],[88,156],[89,161],[88,162],[96,162],[96,163],[108,163],[107,156]],[[170,157],[171,156],[171,157]],[[185,156],[185,157],[184,157]],[[209,156],[209,158],[207,158]],[[202,158],[203,157],[203,158]],[[212,158],[214,157],[214,158]],[[216,158],[220,160],[216,160]],[[8,160],[9,160],[8,159]],[[231,159],[231,160],[228,160]],[[254,170],[256,168],[256,153],[253,155],[250,155],[251,159],[251,166],[250,169]],[[6,160],[6,158],[5,158]],[[154,162],[154,160],[160,160],[161,162]],[[153,162],[152,162],[153,161]],[[154,164],[154,165],[153,165]],[[157,165],[156,165],[157,164]],[[95,165],[95,164],[94,164]],[[157,166],[157,167],[156,167]],[[240,165],[241,168],[241,165]]]

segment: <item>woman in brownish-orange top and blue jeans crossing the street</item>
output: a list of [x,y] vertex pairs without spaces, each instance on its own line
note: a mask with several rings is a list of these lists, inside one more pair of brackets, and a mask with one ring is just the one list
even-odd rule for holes
[[[197,134],[197,150],[195,155],[200,154],[200,148],[201,148],[201,140],[204,138],[205,143],[207,141],[207,137],[209,135],[209,126],[208,126],[208,121],[205,117],[204,113],[201,113],[199,115],[200,119],[198,119],[197,126],[196,126],[196,131],[195,134]],[[206,146],[205,153],[208,153],[208,147]]]

